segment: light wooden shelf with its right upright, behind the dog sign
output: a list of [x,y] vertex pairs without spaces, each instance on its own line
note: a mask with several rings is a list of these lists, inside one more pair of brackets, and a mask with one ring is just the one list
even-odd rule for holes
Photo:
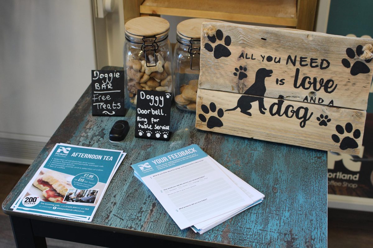
[[170,15],[313,30],[317,0],[144,0],[140,16]]

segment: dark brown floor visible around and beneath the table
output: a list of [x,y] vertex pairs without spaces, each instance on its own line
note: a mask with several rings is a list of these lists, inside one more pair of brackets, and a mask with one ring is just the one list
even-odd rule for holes
[[[13,189],[28,165],[0,162],[0,203]],[[94,248],[74,242],[48,239],[48,247],[53,248]],[[373,244],[373,212],[329,209],[328,247],[329,248],[366,248]],[[0,211],[0,248],[16,247],[9,217]]]

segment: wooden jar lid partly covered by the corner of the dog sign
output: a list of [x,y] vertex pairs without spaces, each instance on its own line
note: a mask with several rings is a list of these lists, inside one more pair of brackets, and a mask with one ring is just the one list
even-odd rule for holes
[[211,21],[213,20],[206,18],[188,19],[180,22],[176,27],[176,31],[183,39],[200,39],[202,23]]

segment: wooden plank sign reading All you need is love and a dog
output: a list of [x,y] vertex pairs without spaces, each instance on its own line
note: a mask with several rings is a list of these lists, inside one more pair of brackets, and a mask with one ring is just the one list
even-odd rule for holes
[[195,126],[358,154],[373,75],[372,59],[361,59],[367,44],[373,39],[203,23]]

